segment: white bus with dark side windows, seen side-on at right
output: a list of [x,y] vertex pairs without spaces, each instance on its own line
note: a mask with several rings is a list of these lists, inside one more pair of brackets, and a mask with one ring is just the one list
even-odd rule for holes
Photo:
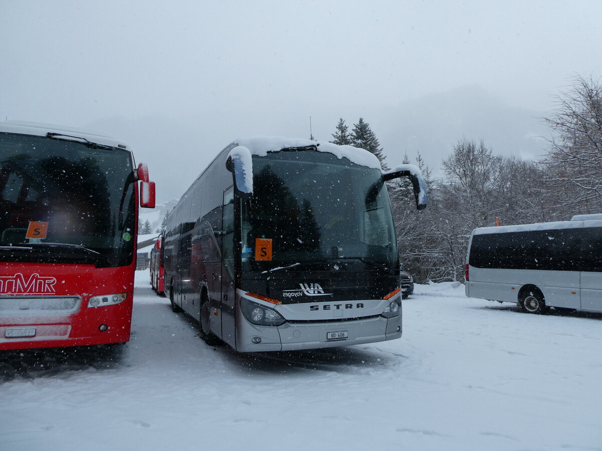
[[517,302],[528,313],[602,312],[602,214],[474,229],[466,295]]

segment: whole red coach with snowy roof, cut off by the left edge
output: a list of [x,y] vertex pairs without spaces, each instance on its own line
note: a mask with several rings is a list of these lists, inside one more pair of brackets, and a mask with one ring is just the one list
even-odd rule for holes
[[138,197],[155,184],[120,141],[0,123],[0,350],[129,340]]

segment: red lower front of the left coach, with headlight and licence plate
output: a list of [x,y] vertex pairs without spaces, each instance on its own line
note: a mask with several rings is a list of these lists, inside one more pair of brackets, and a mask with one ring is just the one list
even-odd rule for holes
[[[133,292],[133,265],[2,263],[0,350],[127,342]],[[94,296],[120,293],[122,302],[88,307]]]

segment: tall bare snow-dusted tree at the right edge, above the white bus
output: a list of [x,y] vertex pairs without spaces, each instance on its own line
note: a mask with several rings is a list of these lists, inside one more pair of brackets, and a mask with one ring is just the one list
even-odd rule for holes
[[542,163],[554,200],[567,215],[602,212],[602,84],[575,76],[545,118],[555,132]]

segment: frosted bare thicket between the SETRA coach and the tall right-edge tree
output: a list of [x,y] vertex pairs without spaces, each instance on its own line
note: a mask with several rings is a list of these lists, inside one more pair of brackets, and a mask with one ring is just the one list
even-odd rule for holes
[[443,180],[432,181],[420,153],[416,162],[429,196],[425,210],[411,208],[407,180],[388,188],[400,260],[419,282],[463,280],[471,231],[495,225],[496,217],[507,225],[553,219],[541,170],[532,161],[494,155],[483,141],[464,138],[442,162]]

